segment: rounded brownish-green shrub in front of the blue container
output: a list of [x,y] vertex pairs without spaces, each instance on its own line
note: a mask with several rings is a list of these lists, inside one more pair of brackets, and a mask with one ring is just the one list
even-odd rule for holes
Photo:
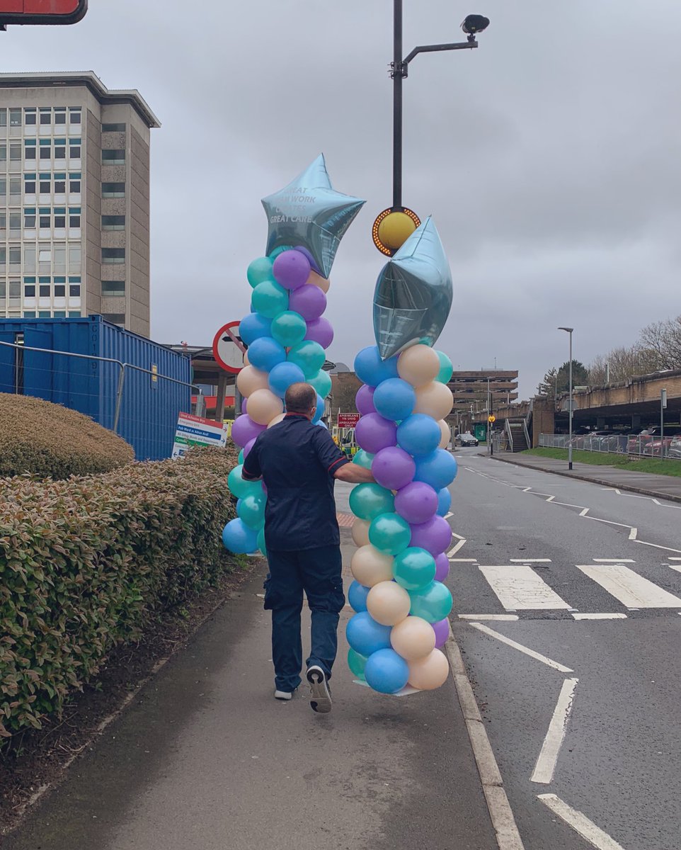
[[132,462],[132,446],[89,416],[30,395],[0,393],[0,476],[105,473]]

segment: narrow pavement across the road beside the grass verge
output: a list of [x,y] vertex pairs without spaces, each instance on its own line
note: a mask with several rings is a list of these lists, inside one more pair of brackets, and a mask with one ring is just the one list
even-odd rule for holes
[[[674,475],[655,475],[653,473],[638,473],[633,469],[618,467],[594,466],[590,463],[573,462],[572,471],[567,468],[567,461],[554,457],[539,457],[526,455],[521,452],[497,452],[494,460],[504,463],[514,463],[519,467],[530,467],[545,473],[565,475],[566,478],[591,481],[604,487],[615,487],[617,490],[628,490],[642,496],[669,499],[681,502],[681,478]],[[676,461],[670,461],[675,463]]]

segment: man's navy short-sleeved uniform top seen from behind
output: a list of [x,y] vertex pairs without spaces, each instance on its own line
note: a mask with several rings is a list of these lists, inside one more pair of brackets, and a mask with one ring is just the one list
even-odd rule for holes
[[267,487],[265,544],[275,552],[338,546],[334,473],[349,463],[326,428],[302,413],[258,435],[244,461],[242,477],[262,477]]

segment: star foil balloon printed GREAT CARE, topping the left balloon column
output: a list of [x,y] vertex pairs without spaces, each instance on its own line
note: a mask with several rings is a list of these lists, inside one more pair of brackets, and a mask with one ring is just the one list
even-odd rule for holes
[[267,213],[267,254],[281,245],[302,248],[312,268],[329,277],[346,229],[366,201],[336,192],[324,154],[284,186],[262,199]]

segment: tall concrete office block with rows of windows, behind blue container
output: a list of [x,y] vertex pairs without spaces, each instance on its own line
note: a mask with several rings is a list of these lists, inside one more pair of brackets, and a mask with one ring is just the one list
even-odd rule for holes
[[0,74],[0,319],[102,314],[149,337],[149,141],[136,90]]

